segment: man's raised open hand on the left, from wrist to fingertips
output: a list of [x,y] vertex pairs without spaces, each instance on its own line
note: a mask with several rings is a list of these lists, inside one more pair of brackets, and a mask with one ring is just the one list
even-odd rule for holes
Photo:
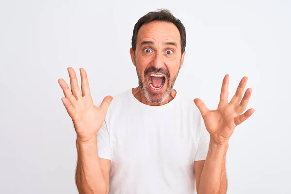
[[90,94],[86,71],[80,68],[81,90],[78,86],[78,80],[74,69],[68,67],[68,72],[71,89],[63,79],[58,80],[65,94],[65,97],[62,97],[62,101],[67,113],[74,123],[77,132],[77,141],[79,141],[79,143],[86,143],[90,139],[95,138],[97,131],[101,129],[113,97],[105,97],[100,106],[96,107],[93,104]]

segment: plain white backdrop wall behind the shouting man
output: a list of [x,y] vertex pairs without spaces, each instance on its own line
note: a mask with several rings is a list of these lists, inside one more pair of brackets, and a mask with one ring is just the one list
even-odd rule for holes
[[57,80],[88,73],[95,104],[138,85],[134,24],[167,8],[185,25],[174,86],[216,109],[243,76],[256,112],[233,133],[228,194],[291,194],[290,0],[0,0],[0,193],[77,194],[76,133]]

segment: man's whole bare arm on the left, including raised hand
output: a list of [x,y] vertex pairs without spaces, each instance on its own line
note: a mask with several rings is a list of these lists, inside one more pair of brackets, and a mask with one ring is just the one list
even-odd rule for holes
[[69,67],[68,73],[71,88],[63,79],[58,82],[65,95],[62,102],[77,133],[76,185],[80,194],[107,194],[111,162],[98,157],[97,132],[104,123],[113,97],[107,96],[100,106],[95,106],[86,71],[80,68],[81,89],[74,69]]

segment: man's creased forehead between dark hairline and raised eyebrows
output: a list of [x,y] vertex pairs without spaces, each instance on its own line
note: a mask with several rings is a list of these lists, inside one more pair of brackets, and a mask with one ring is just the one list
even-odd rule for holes
[[152,21],[142,25],[137,33],[137,44],[142,41],[151,40],[154,42],[175,41],[178,46],[180,42],[180,32],[171,22]]

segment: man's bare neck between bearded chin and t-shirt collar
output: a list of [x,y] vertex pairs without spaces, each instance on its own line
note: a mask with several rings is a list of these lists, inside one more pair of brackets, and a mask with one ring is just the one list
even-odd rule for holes
[[175,98],[177,92],[176,92],[176,90],[172,90],[170,95],[161,103],[151,103],[151,102],[149,102],[146,99],[146,97],[144,96],[144,94],[143,94],[143,92],[142,92],[142,90],[141,90],[141,88],[139,86],[132,89],[132,94],[136,99],[138,99],[138,101],[140,101],[143,104],[146,104],[146,105],[149,105],[149,106],[161,106],[161,105],[167,104],[170,101],[172,101]]

